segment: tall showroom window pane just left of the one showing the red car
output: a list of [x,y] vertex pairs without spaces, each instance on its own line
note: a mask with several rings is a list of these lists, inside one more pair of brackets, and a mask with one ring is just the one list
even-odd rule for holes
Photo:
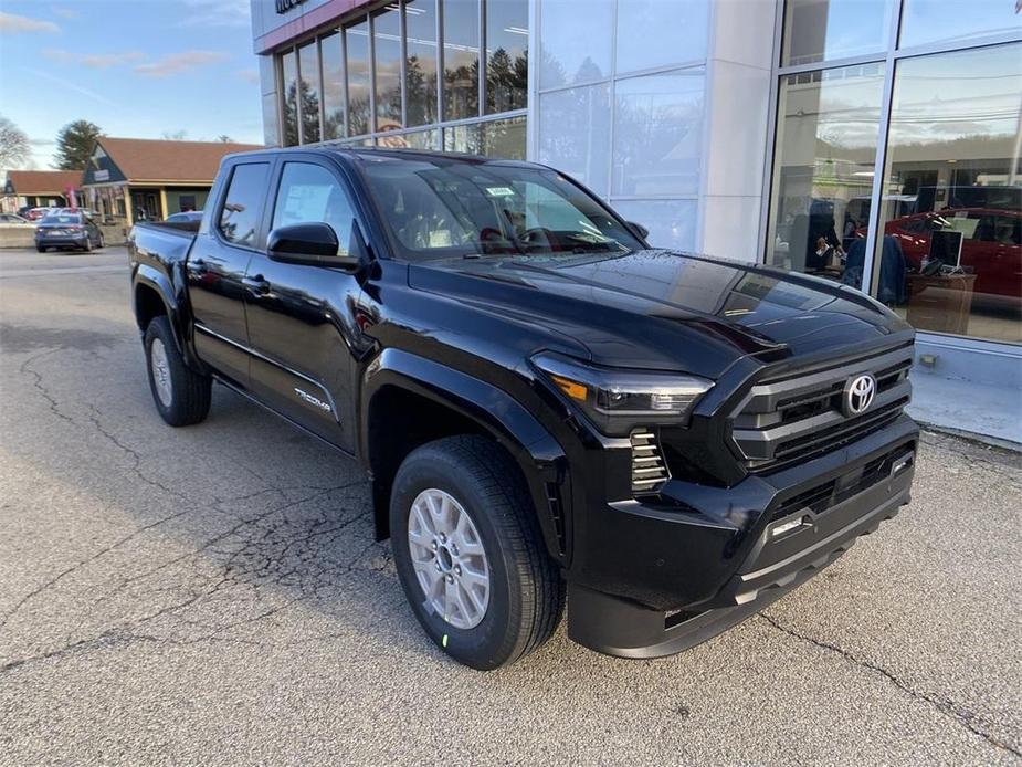
[[767,263],[842,279],[865,242],[883,90],[881,64],[781,80]]

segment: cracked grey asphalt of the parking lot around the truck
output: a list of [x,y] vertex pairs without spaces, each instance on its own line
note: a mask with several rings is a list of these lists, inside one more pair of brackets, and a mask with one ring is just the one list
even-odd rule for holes
[[0,764],[1018,764],[1020,490],[927,433],[912,505],[765,614],[482,674],[354,462],[219,387],[160,421],[123,249],[0,252]]

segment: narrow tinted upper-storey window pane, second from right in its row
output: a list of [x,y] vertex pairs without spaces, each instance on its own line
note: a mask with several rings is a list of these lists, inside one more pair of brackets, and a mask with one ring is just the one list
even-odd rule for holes
[[444,0],[443,117],[480,114],[480,0]]

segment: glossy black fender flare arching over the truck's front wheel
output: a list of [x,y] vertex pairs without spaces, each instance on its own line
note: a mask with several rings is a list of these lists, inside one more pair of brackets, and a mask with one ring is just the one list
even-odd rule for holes
[[[492,384],[402,349],[384,349],[366,368],[360,407],[359,455],[370,465],[369,414],[373,397],[387,388],[398,388],[450,408],[478,424],[518,463],[528,484],[544,540],[550,556],[566,557],[565,511],[560,488],[567,487],[568,460],[560,443],[510,395]],[[386,537],[390,487],[377,488],[373,481],[377,537]],[[551,509],[555,492],[560,508]],[[382,524],[382,527],[381,527]]]

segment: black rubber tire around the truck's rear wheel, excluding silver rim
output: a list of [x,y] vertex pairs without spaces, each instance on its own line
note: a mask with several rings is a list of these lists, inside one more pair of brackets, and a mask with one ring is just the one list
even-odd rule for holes
[[[169,401],[161,399],[154,372],[152,355],[155,346],[162,347],[166,357],[165,376],[169,381]],[[146,328],[145,337],[146,371],[149,376],[149,391],[160,417],[172,427],[187,427],[199,423],[209,414],[212,379],[189,369],[178,350],[166,316],[155,317]]]

